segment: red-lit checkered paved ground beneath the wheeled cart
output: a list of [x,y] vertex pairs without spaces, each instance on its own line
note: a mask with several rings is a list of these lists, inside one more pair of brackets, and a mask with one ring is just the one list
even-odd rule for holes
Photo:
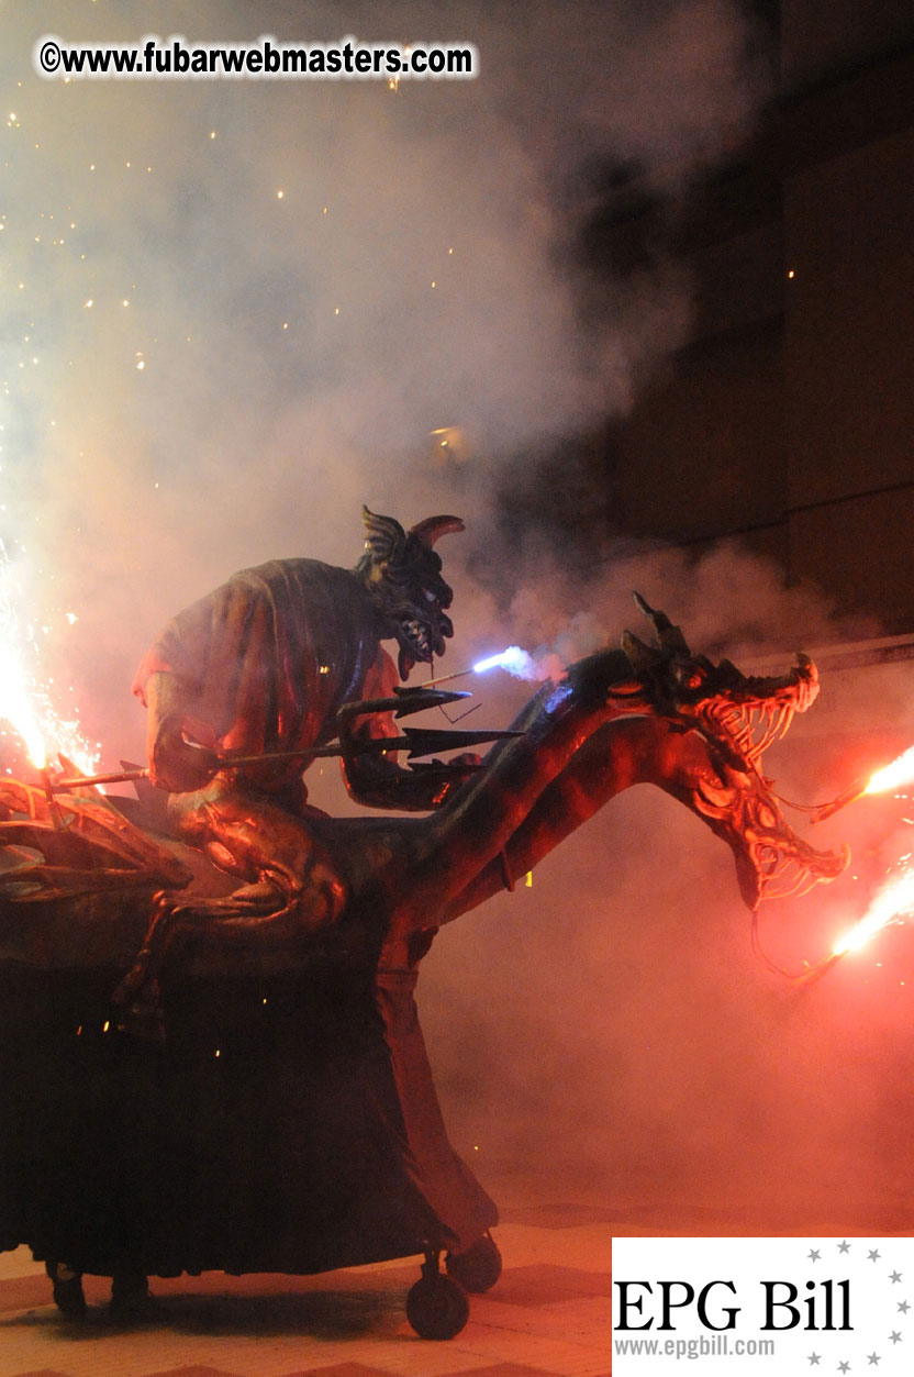
[[504,1272],[447,1343],[406,1322],[418,1259],[312,1278],[157,1279],[154,1314],[128,1327],[106,1316],[96,1278],[87,1321],[66,1322],[19,1249],[0,1254],[0,1377],[607,1377],[611,1212],[548,1191],[515,1191],[513,1205],[493,1194]]

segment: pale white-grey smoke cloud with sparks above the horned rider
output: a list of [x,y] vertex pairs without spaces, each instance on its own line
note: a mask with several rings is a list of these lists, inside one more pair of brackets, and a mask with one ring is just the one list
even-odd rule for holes
[[[4,14],[0,534],[59,628],[48,672],[65,661],[114,752],[139,735],[131,665],[176,607],[275,555],[348,563],[362,500],[407,521],[463,500],[482,529],[502,456],[628,408],[681,339],[669,264],[604,282],[611,310],[582,329],[574,240],[599,165],[635,160],[674,197],[746,131],[763,77],[743,11],[533,3],[515,19],[479,3]],[[65,84],[30,67],[48,32],[439,34],[475,41],[482,74],[396,95]],[[442,424],[468,437],[460,493],[424,471]]]

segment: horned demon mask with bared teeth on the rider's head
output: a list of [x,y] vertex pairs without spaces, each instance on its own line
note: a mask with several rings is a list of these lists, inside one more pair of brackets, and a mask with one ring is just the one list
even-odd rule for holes
[[457,516],[428,516],[403,530],[392,516],[376,516],[368,507],[362,508],[362,521],[365,554],[355,573],[381,614],[385,635],[399,643],[399,673],[406,679],[414,664],[431,664],[435,655],[443,655],[445,639],[454,635],[445,616],[453,593],[432,545],[439,536],[465,527]]

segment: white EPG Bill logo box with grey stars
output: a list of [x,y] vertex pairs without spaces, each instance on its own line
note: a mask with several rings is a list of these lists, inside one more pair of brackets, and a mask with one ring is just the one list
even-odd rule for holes
[[914,1239],[614,1238],[617,1377],[713,1358],[721,1377],[910,1377]]

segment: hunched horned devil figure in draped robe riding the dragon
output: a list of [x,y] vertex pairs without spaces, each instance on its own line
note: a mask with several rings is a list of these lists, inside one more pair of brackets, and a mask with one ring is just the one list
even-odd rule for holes
[[[134,693],[149,709],[151,779],[172,793],[178,833],[249,883],[235,898],[296,902],[322,925],[343,887],[308,828],[300,759],[235,770],[226,755],[262,756],[321,746],[337,734],[344,702],[388,697],[398,683],[381,640],[399,643],[399,677],[445,651],[451,589],[432,549],[464,529],[432,516],[405,532],[362,509],[365,554],[354,570],[279,559],[234,574],[179,613],[143,658]],[[394,737],[391,713],[357,720],[354,738]],[[344,760],[350,795],[377,807],[428,810],[463,779],[460,768],[401,768],[390,755]],[[299,903],[306,899],[307,902]]]

